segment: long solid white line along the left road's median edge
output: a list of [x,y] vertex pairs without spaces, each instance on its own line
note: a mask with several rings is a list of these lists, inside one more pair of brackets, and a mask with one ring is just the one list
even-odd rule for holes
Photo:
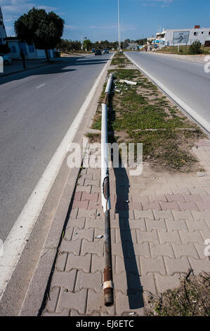
[[[110,59],[112,59],[113,56],[114,54]],[[37,183],[37,186],[29,197],[20,216],[16,220],[11,232],[4,242],[4,256],[0,256],[0,300],[6,290],[8,281],[11,279],[15,267],[18,264],[27,239],[29,239],[29,235],[37,222],[37,218],[44,206],[48,193],[55,182],[55,178],[58,175],[67,151],[70,149],[70,144],[73,142],[81,120],[84,117],[84,113],[86,113],[86,110],[93,99],[96,88],[98,87],[100,79],[103,76],[103,73],[105,73],[108,64],[109,61],[107,61],[107,64],[96,79],[96,82],[84,101],[84,104],[79,109],[79,113],[77,113],[77,116],[74,118],[74,121],[63,138],[63,141],[55,151],[55,154],[48,163],[46,170],[44,170],[41,179]]]

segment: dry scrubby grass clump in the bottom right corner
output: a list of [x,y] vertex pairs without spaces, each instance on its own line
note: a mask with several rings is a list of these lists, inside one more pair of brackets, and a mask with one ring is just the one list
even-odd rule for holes
[[147,316],[210,316],[210,274],[182,277],[176,289],[150,296]]

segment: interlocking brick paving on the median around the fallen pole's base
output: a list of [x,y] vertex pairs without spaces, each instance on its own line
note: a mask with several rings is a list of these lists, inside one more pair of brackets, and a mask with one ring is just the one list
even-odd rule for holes
[[[143,175],[110,170],[114,306],[103,304],[100,169],[81,170],[43,316],[143,316],[147,294],[178,287],[181,275],[210,272],[210,141],[193,147],[206,173]],[[130,201],[129,203],[126,201]]]

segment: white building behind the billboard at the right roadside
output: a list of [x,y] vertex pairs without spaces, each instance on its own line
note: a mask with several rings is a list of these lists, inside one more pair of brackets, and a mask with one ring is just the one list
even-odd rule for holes
[[204,45],[206,41],[210,41],[210,27],[195,25],[194,29],[163,30],[157,32],[156,39],[166,46],[191,45],[196,40]]

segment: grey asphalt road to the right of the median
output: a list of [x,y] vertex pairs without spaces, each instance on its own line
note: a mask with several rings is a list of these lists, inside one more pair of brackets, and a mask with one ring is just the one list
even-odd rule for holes
[[206,62],[192,63],[143,52],[127,54],[210,123],[210,73],[204,72]]

